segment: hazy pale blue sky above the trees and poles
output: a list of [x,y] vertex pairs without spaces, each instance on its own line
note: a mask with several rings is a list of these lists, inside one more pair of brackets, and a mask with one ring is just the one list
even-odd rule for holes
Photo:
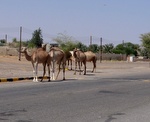
[[0,39],[17,37],[22,26],[23,40],[41,28],[44,42],[58,33],[89,44],[132,42],[150,32],[150,0],[0,0]]

